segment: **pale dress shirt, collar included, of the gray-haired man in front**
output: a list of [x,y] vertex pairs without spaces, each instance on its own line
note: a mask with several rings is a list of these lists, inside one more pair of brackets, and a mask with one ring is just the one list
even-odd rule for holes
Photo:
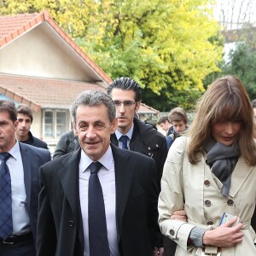
[[[116,228],[116,192],[115,192],[115,175],[112,149],[108,148],[107,152],[98,160],[102,168],[98,172],[98,177],[102,185],[102,192],[105,204],[105,213],[108,231],[108,244],[111,256],[119,256],[117,243]],[[84,229],[84,256],[90,256],[89,245],[89,228],[88,228],[88,183],[90,177],[90,164],[92,160],[81,150],[81,159],[79,163],[79,196],[81,213]],[[100,242],[100,241],[99,241]]]

